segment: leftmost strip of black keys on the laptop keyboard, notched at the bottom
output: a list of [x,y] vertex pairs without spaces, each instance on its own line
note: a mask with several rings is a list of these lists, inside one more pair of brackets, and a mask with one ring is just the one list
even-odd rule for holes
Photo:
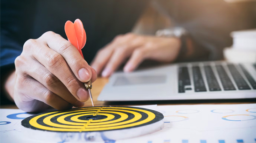
[[191,85],[188,67],[179,67],[178,74],[178,93],[185,93],[185,85]]

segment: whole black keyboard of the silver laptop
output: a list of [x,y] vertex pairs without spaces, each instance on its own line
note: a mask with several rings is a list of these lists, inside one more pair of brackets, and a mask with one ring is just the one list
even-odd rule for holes
[[[225,66],[225,67],[224,67]],[[229,90],[250,90],[256,89],[256,81],[253,79],[251,74],[245,69],[242,64],[239,64],[239,69],[234,64],[221,65],[217,64],[213,67],[210,65],[204,65],[203,69],[200,69],[200,66],[194,65],[191,67],[192,70],[192,80],[190,81],[189,68],[186,66],[179,67],[178,69],[178,93],[185,93],[186,90],[191,90],[194,88],[195,92],[206,92],[209,91],[229,91]],[[216,69],[216,73],[214,74],[214,69]],[[204,74],[202,74],[204,72]],[[229,72],[229,73],[227,73]],[[241,73],[240,73],[241,72]],[[218,76],[216,76],[218,75]],[[208,89],[206,89],[206,83],[208,84]],[[247,79],[248,83],[246,82]],[[232,77],[230,79],[230,77]],[[218,81],[219,79],[219,81]],[[185,87],[187,86],[187,87]],[[222,89],[222,88],[223,89]],[[193,89],[192,88],[192,89]],[[237,88],[237,89],[236,89]]]

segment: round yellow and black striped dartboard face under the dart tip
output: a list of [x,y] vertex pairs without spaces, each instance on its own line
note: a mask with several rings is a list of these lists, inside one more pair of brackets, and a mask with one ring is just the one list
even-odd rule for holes
[[25,118],[26,128],[51,132],[94,132],[136,128],[163,119],[162,113],[137,107],[85,107]]

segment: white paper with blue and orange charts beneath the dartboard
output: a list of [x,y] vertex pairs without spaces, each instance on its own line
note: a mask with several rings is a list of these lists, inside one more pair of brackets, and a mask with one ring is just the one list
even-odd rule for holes
[[[162,130],[102,143],[256,143],[256,104],[138,106],[164,115]],[[0,143],[43,143],[22,135],[19,109],[0,109]],[[63,138],[62,142],[68,143]]]

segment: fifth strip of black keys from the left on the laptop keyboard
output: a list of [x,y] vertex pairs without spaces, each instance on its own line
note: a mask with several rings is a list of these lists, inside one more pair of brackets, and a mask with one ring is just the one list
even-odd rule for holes
[[230,73],[232,74],[233,79],[235,80],[235,84],[239,90],[251,89],[250,86],[246,83],[246,80],[242,77],[242,75],[236,69],[234,64],[228,64],[227,66],[228,66]]

